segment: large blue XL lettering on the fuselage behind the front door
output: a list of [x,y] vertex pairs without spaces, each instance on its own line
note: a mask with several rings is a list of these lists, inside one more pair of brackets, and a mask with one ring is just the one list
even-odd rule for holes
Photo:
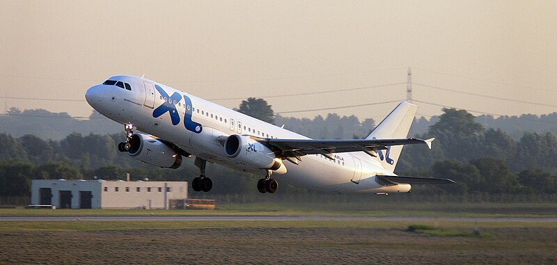
[[[157,109],[155,109],[155,111],[152,112],[152,117],[159,118],[160,116],[164,115],[164,113],[168,112],[170,113],[172,125],[178,125],[180,123],[180,114],[176,109],[176,103],[180,102],[182,96],[178,92],[175,92],[172,94],[172,97],[169,97],[168,93],[166,93],[166,91],[164,91],[164,89],[162,89],[159,85],[155,85],[155,88],[157,89],[157,91],[159,91],[163,99],[166,100],[161,106],[159,106]],[[184,95],[184,99],[186,102],[184,127],[186,127],[188,131],[193,131],[194,133],[199,134],[201,133],[201,131],[203,131],[203,125],[191,120],[191,116],[193,115],[192,110],[194,109],[194,106],[191,104],[191,99],[189,99],[189,97]]]

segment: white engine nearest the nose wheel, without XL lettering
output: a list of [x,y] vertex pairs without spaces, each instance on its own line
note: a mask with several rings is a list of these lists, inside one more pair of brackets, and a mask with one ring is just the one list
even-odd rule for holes
[[134,159],[161,168],[179,168],[182,164],[180,154],[147,134],[134,134],[128,143],[130,143],[131,148],[127,154],[130,154]]

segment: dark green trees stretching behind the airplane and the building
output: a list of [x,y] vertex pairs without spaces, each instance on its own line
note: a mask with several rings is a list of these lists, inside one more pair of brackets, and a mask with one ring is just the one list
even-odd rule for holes
[[[244,101],[240,111],[312,138],[362,138],[374,121],[359,122],[354,116],[295,119],[273,115],[262,99]],[[242,103],[244,103],[242,102]],[[258,106],[249,106],[256,104]],[[263,110],[262,110],[263,109]],[[265,110],[267,109],[267,110]],[[444,109],[439,120],[419,138],[436,137],[432,150],[409,145],[402,152],[396,173],[450,178],[453,185],[420,186],[416,193],[556,193],[557,138],[554,134],[525,133],[514,140],[501,129],[485,129],[470,113]],[[264,116],[261,116],[264,113]],[[346,137],[346,134],[351,136]],[[26,134],[0,134],[0,196],[29,195],[31,179],[125,179],[190,180],[199,175],[194,159],[184,159],[178,170],[157,168],[118,152],[123,134],[72,133],[61,140],[43,140]],[[294,166],[294,165],[292,165]],[[212,193],[257,193],[261,176],[210,164],[207,175]],[[281,185],[281,193],[311,193]]]

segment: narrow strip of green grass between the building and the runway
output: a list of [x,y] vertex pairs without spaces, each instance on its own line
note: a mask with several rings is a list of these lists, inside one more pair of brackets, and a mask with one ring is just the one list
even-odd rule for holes
[[141,216],[157,215],[320,215],[320,216],[557,216],[557,202],[551,203],[251,203],[221,204],[214,211],[140,210],[140,209],[0,209],[0,216],[82,215]]

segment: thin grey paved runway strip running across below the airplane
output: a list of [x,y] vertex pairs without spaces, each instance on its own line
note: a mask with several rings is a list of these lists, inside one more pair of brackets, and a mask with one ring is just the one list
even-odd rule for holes
[[0,216],[0,221],[369,221],[369,222],[539,222],[555,223],[557,217],[431,217],[431,216]]

